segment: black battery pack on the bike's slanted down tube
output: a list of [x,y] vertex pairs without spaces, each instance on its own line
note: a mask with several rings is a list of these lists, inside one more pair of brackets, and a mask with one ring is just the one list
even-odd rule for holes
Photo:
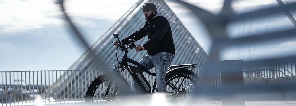
[[151,87],[149,82],[144,77],[143,73],[140,71],[138,67],[129,65],[130,69],[134,72],[133,74],[136,76],[136,78],[142,83],[142,87],[147,91],[151,92]]

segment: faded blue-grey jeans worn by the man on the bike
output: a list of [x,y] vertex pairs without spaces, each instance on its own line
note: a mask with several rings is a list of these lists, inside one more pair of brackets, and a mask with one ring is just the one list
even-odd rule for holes
[[[175,58],[175,55],[172,55],[168,52],[159,52],[156,55],[146,55],[139,61],[141,65],[143,65],[146,69],[150,70],[155,68],[156,72],[156,85],[158,92],[166,93],[166,72],[169,68],[169,65]],[[143,70],[141,70],[143,72]],[[137,92],[135,85],[135,90]]]

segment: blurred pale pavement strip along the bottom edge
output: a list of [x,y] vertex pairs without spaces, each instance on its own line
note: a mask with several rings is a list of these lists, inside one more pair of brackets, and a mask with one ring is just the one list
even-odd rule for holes
[[[158,98],[160,97],[160,98]],[[228,101],[225,101],[227,100]],[[165,98],[161,96],[152,97],[149,99],[141,98],[124,98],[119,102],[113,102],[112,104],[105,104],[105,102],[96,102],[93,104],[87,104],[85,101],[42,101],[35,100],[34,102],[19,102],[16,104],[0,104],[2,106],[16,106],[16,105],[36,105],[36,106],[296,106],[296,100],[272,100],[272,101],[247,101],[241,99],[224,99],[224,101],[209,101],[202,99],[190,100],[182,104],[169,104]],[[199,100],[199,101],[197,101]],[[224,103],[223,103],[224,102]],[[23,103],[23,104],[22,104]],[[27,103],[27,104],[26,104]],[[31,103],[31,104],[30,104]]]

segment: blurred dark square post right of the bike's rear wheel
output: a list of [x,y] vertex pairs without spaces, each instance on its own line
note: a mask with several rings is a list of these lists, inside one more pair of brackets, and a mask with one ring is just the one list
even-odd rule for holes
[[[243,60],[224,60],[221,64],[221,87],[233,89],[244,86]],[[222,95],[223,106],[245,106],[244,95],[227,92]]]

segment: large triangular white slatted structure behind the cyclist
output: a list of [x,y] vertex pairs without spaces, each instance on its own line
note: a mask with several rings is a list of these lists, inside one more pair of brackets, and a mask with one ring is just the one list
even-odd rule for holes
[[[139,2],[137,2],[122,18],[120,18],[113,26],[111,26],[111,28],[108,29],[95,42],[94,45],[92,45],[92,51],[95,51],[97,57],[100,58],[94,58],[94,56],[89,55],[90,52],[88,50],[71,66],[70,70],[100,70],[101,65],[97,62],[94,62],[93,59],[104,61],[105,65],[109,65],[106,67],[110,67],[112,64],[118,65],[116,61],[115,46],[111,43],[112,41],[115,41],[116,38],[114,38],[112,34],[118,33],[119,38],[122,39],[143,27],[146,20],[143,16],[142,6],[146,2],[154,2],[157,6],[158,11],[162,12],[162,14],[169,20],[169,23],[171,25],[172,36],[174,38],[176,49],[175,59],[172,61],[171,65],[196,63],[197,65],[195,68],[195,72],[198,75],[201,74],[200,69],[204,64],[205,59],[208,57],[207,52],[204,51],[203,47],[201,47],[195,36],[180,20],[179,16],[176,15],[163,0],[139,0]],[[145,37],[135,43],[144,44],[147,39],[148,38]],[[123,51],[118,52],[119,60],[121,60],[121,56],[123,55]],[[135,61],[139,61],[145,55],[147,55],[145,51],[136,53],[135,50],[130,50],[128,57],[134,59]],[[152,69],[151,71],[153,72],[154,69]],[[61,90],[56,95],[61,96],[62,98],[77,95],[83,95],[84,97],[86,92],[86,89],[83,89],[84,86],[88,86],[89,82],[92,82],[94,78],[102,74],[101,71],[71,71],[68,73],[68,75],[64,76],[65,80],[60,81],[60,83],[57,82],[56,86],[54,87],[54,89]],[[80,75],[84,76],[85,78],[77,77]],[[130,86],[134,88],[131,77],[128,76],[127,73],[125,73],[124,76],[127,78]],[[151,81],[154,81],[154,78],[150,75],[146,75],[146,78],[147,80],[149,80],[150,83]],[[82,82],[83,84],[81,84]],[[77,88],[80,89],[78,90]],[[69,91],[67,90],[71,90],[74,92],[69,94]],[[64,92],[67,92],[67,94]]]

